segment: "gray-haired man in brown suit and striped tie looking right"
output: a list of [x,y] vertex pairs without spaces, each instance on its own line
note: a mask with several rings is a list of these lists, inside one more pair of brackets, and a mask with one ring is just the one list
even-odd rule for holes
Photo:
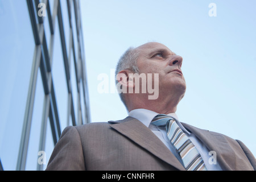
[[[67,127],[47,170],[255,170],[253,154],[239,140],[179,122],[175,112],[186,89],[182,61],[160,43],[128,49],[116,75],[129,116]],[[146,76],[139,85],[135,73]],[[145,80],[157,98],[142,92]]]

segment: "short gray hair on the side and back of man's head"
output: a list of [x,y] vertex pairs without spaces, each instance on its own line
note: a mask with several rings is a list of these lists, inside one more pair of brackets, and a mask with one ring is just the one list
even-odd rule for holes
[[[131,69],[134,73],[139,73],[139,69],[137,67],[137,58],[138,58],[139,52],[133,48],[128,48],[125,53],[120,57],[117,67],[115,68],[115,78],[117,77],[117,74],[125,69]],[[118,83],[118,80],[115,80],[115,84]],[[123,98],[123,93],[119,93],[119,96],[121,98],[121,101],[125,105],[127,109],[126,102]]]

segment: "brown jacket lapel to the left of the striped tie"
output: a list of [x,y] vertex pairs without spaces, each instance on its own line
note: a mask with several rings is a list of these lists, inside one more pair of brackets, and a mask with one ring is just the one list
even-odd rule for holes
[[137,119],[127,117],[120,121],[109,121],[109,123],[114,124],[110,125],[110,127],[133,140],[133,142],[151,152],[151,154],[154,154],[159,159],[181,171],[185,170],[179,160],[176,159],[163,142]]

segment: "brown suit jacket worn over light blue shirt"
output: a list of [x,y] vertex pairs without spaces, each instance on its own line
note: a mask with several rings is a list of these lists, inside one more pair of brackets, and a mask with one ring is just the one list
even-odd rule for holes
[[[253,154],[239,140],[182,124],[210,151],[216,151],[223,170],[256,169]],[[137,119],[127,117],[108,123],[68,126],[61,134],[46,170],[185,169],[150,129]]]

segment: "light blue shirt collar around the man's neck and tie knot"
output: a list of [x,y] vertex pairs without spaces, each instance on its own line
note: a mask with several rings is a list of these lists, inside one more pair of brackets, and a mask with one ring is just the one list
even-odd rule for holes
[[[154,111],[147,110],[147,109],[134,109],[129,112],[130,117],[138,119],[139,121],[141,121],[143,123],[143,125],[145,125],[147,127],[150,125],[152,119],[158,114],[159,113],[156,113]],[[183,130],[184,133],[190,134],[189,131],[186,130],[183,125],[181,125],[176,113],[169,113],[167,115],[169,115],[170,117],[172,117],[176,120],[177,125],[179,125],[180,129]]]

